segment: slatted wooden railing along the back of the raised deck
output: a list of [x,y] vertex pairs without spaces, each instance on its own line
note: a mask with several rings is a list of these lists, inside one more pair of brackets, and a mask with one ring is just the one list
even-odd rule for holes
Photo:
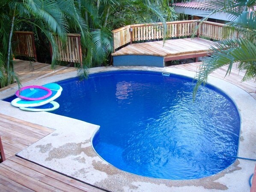
[[[199,25],[198,20],[173,21],[167,22],[166,38],[179,38],[191,36],[195,31],[197,36],[222,40],[223,24],[205,21]],[[164,29],[162,23],[156,24],[136,24],[121,27],[113,30],[114,50],[131,43],[140,43],[143,41],[162,40],[164,38]]]

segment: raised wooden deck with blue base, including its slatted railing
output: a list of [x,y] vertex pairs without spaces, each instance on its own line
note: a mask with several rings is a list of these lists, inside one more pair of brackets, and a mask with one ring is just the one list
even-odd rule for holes
[[[167,61],[206,56],[210,47],[216,46],[206,39],[223,40],[222,27],[223,24],[198,20],[121,27],[112,31],[116,50],[112,53],[113,65],[164,67]],[[188,38],[193,35],[197,37]],[[164,43],[164,38],[170,40]]]

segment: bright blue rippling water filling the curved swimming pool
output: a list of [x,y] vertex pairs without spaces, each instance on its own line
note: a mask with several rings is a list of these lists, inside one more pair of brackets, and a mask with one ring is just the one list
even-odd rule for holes
[[115,71],[58,82],[53,113],[100,125],[95,151],[115,167],[146,177],[188,180],[231,165],[240,118],[212,86],[192,101],[192,79],[158,72]]

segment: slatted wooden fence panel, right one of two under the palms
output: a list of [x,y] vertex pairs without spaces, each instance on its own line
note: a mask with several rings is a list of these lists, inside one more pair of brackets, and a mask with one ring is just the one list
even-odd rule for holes
[[[58,36],[55,36],[55,42],[59,50],[57,60],[81,64],[82,51],[81,51],[80,38],[81,38],[80,34],[68,33],[68,40],[66,44],[63,45],[60,38]],[[52,47],[51,47],[51,51],[52,51]]]

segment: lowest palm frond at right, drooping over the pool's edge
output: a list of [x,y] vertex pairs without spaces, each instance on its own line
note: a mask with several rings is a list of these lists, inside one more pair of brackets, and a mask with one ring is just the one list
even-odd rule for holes
[[246,71],[243,81],[256,78],[256,44],[252,41],[244,38],[227,39],[211,50],[211,57],[202,62],[196,73],[194,95],[199,86],[206,83],[208,75],[224,65],[229,65],[226,75],[230,74],[232,65],[237,62],[237,68]]

